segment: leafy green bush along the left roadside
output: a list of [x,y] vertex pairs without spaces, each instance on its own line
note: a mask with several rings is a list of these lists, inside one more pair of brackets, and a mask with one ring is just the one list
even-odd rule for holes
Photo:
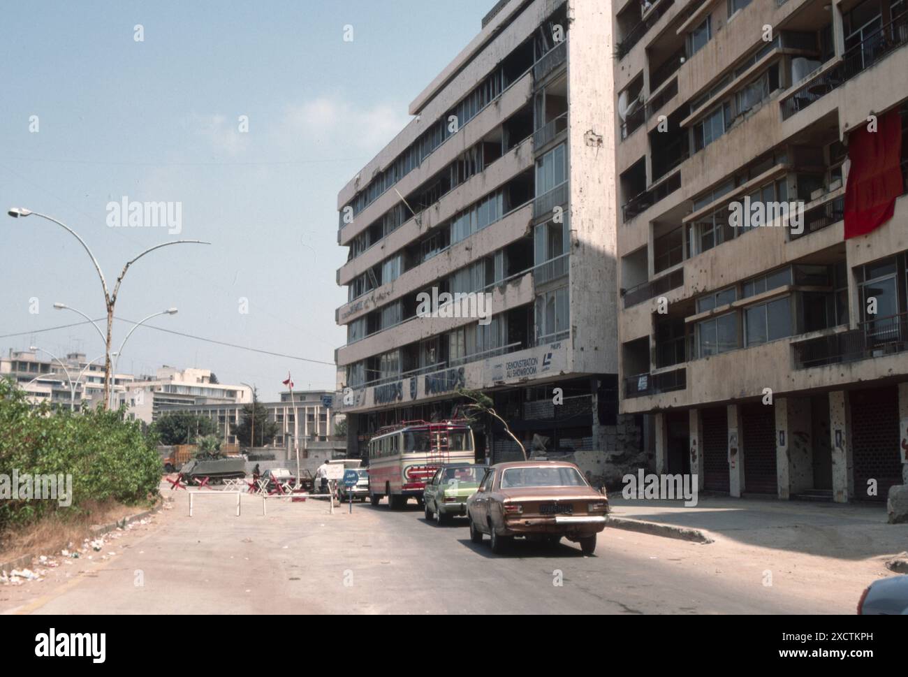
[[9,379],[0,380],[0,476],[72,475],[68,506],[56,500],[0,500],[0,532],[50,513],[82,513],[89,502],[139,503],[158,491],[162,464],[142,425],[119,412],[32,407]]

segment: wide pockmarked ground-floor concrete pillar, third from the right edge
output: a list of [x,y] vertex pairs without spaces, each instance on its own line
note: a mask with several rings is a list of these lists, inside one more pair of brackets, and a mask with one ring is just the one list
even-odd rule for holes
[[775,471],[781,499],[814,488],[812,429],[810,399],[775,399]]

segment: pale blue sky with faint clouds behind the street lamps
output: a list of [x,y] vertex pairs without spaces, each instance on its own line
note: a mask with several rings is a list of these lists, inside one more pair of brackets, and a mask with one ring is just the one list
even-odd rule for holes
[[[2,5],[0,349],[104,352],[91,326],[40,331],[81,321],[55,302],[101,317],[104,298],[72,235],[35,216],[5,215],[21,206],[78,232],[109,284],[153,244],[212,242],[166,247],[134,264],[118,317],[137,321],[176,306],[179,314],[149,324],[333,362],[344,341],[334,309],[346,298],[335,283],[346,259],[337,193],[407,123],[410,101],[479,32],[492,5]],[[343,40],[345,25],[352,42]],[[109,227],[107,204],[123,196],[180,203],[180,234]],[[114,323],[114,349],[129,328]],[[297,389],[335,382],[327,364],[143,326],[120,371],[153,373],[161,364],[210,368],[223,383],[255,383],[267,399],[288,371]]]

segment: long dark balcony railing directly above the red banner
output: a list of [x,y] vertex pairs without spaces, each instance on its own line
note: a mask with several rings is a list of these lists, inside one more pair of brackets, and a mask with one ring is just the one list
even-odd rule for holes
[[782,119],[787,120],[798,111],[819,101],[855,75],[863,73],[881,61],[893,50],[906,44],[908,44],[908,13],[899,15],[881,26],[861,43],[847,50],[841,62],[798,87],[795,94],[782,101]]

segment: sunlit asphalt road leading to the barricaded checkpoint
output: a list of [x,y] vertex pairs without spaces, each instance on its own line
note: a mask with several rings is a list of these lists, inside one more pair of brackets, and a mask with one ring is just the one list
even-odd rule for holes
[[[465,520],[427,523],[416,503],[356,503],[181,492],[156,523],[112,543],[104,563],[54,570],[0,602],[18,613],[823,613],[831,606],[758,577],[698,566],[704,547],[607,529],[595,556],[522,541],[495,556]],[[106,550],[106,548],[105,548]],[[682,565],[684,564],[684,565]],[[68,575],[65,575],[68,574]],[[852,600],[847,600],[851,605]]]

